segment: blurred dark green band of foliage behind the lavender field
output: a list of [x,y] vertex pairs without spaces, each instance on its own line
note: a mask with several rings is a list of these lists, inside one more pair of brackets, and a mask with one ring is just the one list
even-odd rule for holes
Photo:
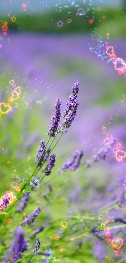
[[[81,5],[81,8],[86,10],[85,5]],[[43,32],[43,33],[83,33],[83,32],[92,32],[93,30],[96,30],[98,27],[102,27],[103,29],[106,29],[106,26],[112,32],[112,35],[114,32],[116,32],[116,35],[122,35],[125,34],[125,23],[123,24],[123,27],[120,27],[120,21],[125,21],[124,17],[122,16],[121,10],[111,10],[111,9],[104,9],[103,11],[96,11],[94,13],[94,19],[93,19],[93,13],[91,9],[88,11],[88,16],[82,15],[82,16],[76,16],[78,8],[71,7],[71,13],[68,14],[68,9],[63,8],[62,11],[59,13],[53,9],[48,10],[47,13],[43,13],[41,15],[38,14],[32,14],[29,16],[29,14],[22,14],[16,16],[16,21],[12,22],[11,17],[7,17],[8,22],[8,28],[12,30],[23,30],[23,31],[31,31],[31,32]],[[125,16],[125,13],[123,14]],[[103,19],[103,16],[105,16],[105,19]],[[120,18],[121,17],[121,18]],[[68,23],[68,19],[72,19],[71,23]],[[53,21],[51,21],[53,19]],[[89,23],[89,19],[93,19],[93,23]],[[1,17],[1,26],[3,26],[5,18]],[[113,21],[115,23],[115,20],[117,20],[117,27],[115,27],[115,24],[112,28]],[[63,26],[59,27],[57,25],[58,21],[63,22]],[[115,28],[115,31],[114,31]],[[104,30],[102,30],[104,32]],[[106,32],[106,31],[105,31]],[[100,32],[101,35],[101,32]]]

